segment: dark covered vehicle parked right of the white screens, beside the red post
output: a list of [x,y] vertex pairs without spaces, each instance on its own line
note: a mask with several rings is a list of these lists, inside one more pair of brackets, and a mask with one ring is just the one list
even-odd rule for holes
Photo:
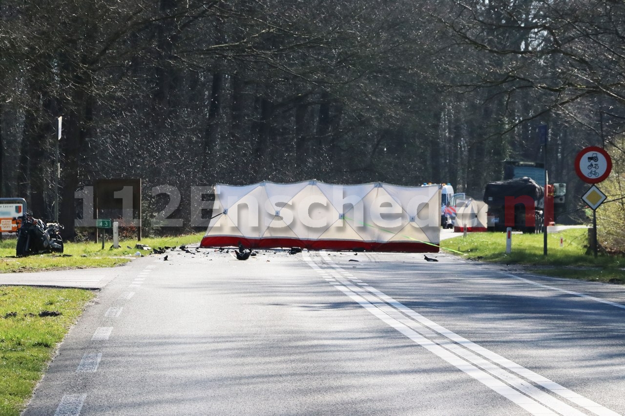
[[491,182],[484,189],[484,202],[488,204],[489,230],[503,231],[512,227],[523,232],[542,232],[544,190],[533,179],[522,177]]

